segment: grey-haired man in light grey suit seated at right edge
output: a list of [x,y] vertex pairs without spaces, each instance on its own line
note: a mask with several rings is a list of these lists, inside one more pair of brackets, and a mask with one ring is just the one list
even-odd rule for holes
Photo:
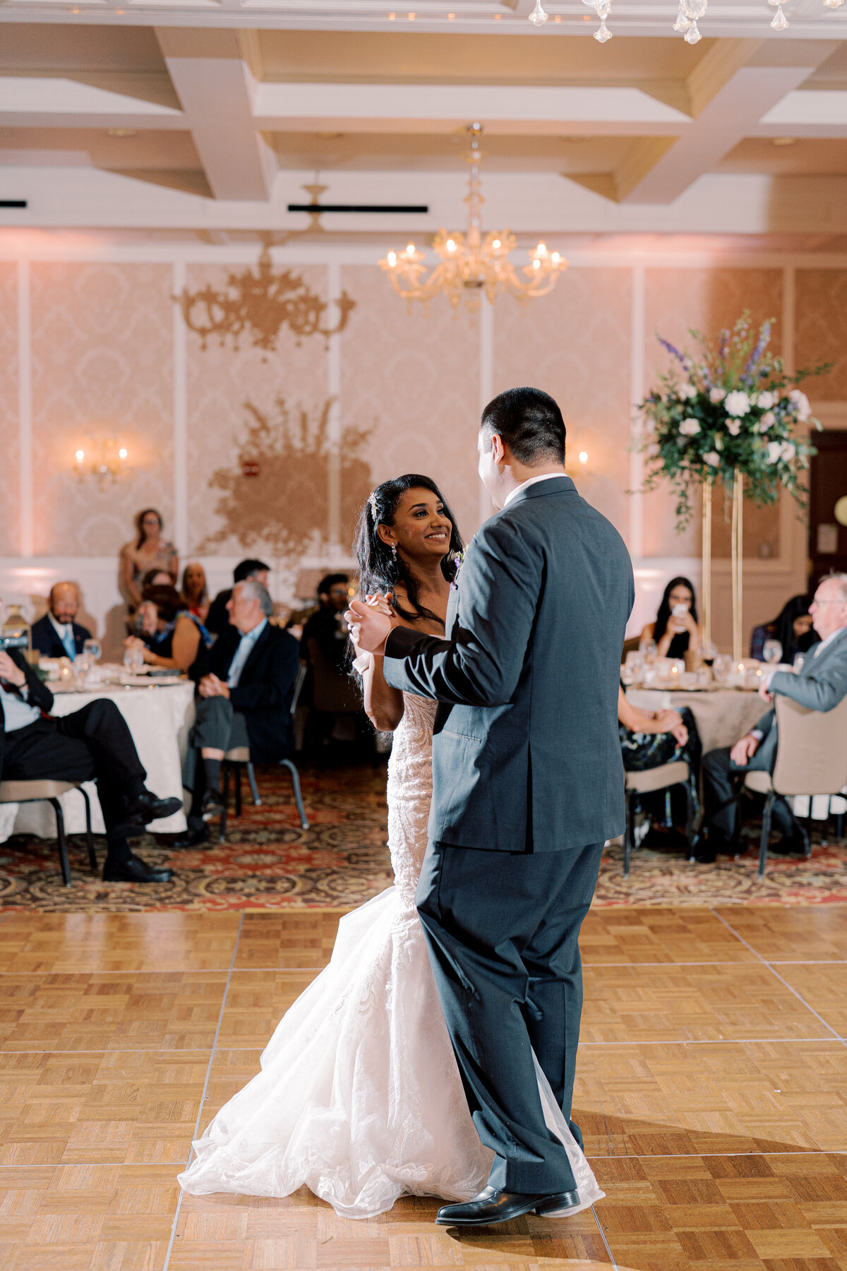
[[[818,583],[809,613],[820,643],[806,655],[800,671],[768,671],[759,693],[771,702],[782,694],[809,710],[832,710],[847,695],[847,574],[833,573]],[[710,750],[704,759],[705,829],[709,848],[702,859],[730,852],[738,816],[733,775],[745,771],[773,771],[777,751],[776,712],[768,710],[731,747]],[[773,822],[782,839],[770,852],[805,854],[805,840],[784,799],[773,805]],[[701,859],[701,858],[698,858]]]

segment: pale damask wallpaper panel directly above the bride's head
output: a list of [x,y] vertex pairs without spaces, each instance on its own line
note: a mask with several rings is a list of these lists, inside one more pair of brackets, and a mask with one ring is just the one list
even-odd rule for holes
[[[373,484],[417,472],[441,487],[466,538],[479,525],[479,323],[443,297],[411,313],[378,269],[344,267],[357,301],[342,336],[344,422],[367,431]],[[348,526],[357,508],[344,508]]]

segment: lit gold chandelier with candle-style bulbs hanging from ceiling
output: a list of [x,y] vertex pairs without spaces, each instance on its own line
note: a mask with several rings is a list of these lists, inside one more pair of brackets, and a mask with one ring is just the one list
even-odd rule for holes
[[380,268],[389,275],[397,295],[406,300],[427,301],[443,291],[453,309],[462,299],[467,309],[479,309],[483,292],[490,304],[494,304],[502,290],[517,296],[518,300],[546,296],[556,285],[559,275],[568,268],[568,262],[559,252],[549,252],[544,243],[538,243],[535,252],[530,253],[530,264],[523,266],[522,272],[526,275],[523,281],[509,261],[509,253],[517,247],[514,234],[505,230],[499,234],[491,231],[483,236],[480,210],[485,200],[479,174],[483,159],[479,147],[481,125],[469,125],[467,135],[471,139],[467,156],[471,174],[465,196],[467,233],[438,230],[432,245],[441,262],[428,277],[425,277],[425,257],[415,250],[414,243],[409,243],[404,252],[389,252],[380,261]]

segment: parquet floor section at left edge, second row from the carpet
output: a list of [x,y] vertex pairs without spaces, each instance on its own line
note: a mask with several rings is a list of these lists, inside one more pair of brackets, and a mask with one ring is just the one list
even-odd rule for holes
[[0,976],[0,1051],[211,1047],[226,975]]

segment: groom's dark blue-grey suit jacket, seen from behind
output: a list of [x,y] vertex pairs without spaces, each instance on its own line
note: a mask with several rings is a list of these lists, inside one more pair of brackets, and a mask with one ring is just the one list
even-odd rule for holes
[[617,690],[632,600],[624,540],[563,475],[479,530],[446,639],[391,632],[387,683],[439,703],[430,840],[557,852],[622,833]]

